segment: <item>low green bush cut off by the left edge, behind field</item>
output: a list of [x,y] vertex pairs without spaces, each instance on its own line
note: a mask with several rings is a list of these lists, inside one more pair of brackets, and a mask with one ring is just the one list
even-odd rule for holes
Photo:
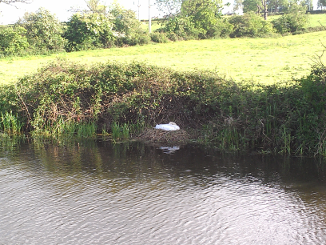
[[0,55],[17,55],[25,50],[29,44],[23,27],[5,27],[0,29]]

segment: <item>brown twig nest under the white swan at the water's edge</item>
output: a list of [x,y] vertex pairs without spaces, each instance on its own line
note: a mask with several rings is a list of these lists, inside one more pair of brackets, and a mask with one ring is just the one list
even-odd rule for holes
[[137,139],[151,143],[186,143],[189,140],[189,134],[183,129],[176,131],[146,129]]

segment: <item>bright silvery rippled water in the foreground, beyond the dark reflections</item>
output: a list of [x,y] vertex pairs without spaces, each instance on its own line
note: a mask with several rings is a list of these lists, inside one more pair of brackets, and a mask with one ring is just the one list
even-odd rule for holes
[[[141,179],[0,159],[0,244],[321,244],[325,189],[240,174]],[[28,164],[26,162],[29,162]],[[30,166],[37,171],[31,171]],[[139,174],[139,172],[138,172]],[[288,185],[289,186],[289,185]]]

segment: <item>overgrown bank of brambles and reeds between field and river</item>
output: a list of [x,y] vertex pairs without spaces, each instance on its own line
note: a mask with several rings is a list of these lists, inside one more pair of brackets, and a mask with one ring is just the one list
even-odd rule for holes
[[[212,72],[140,63],[57,61],[3,87],[1,131],[60,137],[133,137],[175,121],[220,150],[326,155],[326,69],[288,86],[238,84]],[[13,131],[15,128],[15,132]]]

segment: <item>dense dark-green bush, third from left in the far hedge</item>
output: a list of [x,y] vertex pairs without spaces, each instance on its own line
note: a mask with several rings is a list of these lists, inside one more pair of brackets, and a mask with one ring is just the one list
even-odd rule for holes
[[67,22],[64,37],[67,51],[108,48],[114,44],[112,23],[103,14],[74,14]]

